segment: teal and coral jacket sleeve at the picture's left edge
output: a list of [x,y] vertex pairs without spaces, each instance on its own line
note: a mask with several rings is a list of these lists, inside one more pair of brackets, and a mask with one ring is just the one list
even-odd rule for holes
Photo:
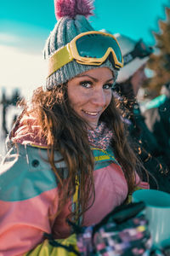
[[[17,152],[18,151],[18,152]],[[51,233],[58,210],[54,172],[42,150],[11,148],[0,166],[0,255],[23,255]]]

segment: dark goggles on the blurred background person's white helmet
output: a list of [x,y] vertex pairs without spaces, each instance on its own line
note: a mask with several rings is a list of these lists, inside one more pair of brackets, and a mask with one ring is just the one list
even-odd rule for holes
[[143,59],[146,56],[149,56],[153,53],[153,48],[150,46],[147,46],[144,44],[144,41],[142,39],[139,40],[139,42],[136,43],[134,49],[127,53],[127,55],[123,56],[123,65],[126,66],[130,61],[133,61],[136,57],[139,57],[139,59]]

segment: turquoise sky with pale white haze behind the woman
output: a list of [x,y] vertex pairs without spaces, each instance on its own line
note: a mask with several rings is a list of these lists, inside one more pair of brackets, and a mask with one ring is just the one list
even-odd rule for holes
[[[158,32],[158,20],[165,20],[165,6],[170,0],[96,0],[90,22],[96,30],[105,28],[154,45],[151,31]],[[0,87],[25,90],[44,82],[42,49],[55,23],[54,0],[1,1]]]

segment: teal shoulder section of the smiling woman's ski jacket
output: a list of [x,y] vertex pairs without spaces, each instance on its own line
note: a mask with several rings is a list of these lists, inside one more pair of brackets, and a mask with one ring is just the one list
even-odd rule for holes
[[[56,167],[65,170],[65,162],[59,154],[55,154],[55,160],[58,161]],[[47,149],[17,144],[0,165],[0,200],[27,200],[57,186]]]

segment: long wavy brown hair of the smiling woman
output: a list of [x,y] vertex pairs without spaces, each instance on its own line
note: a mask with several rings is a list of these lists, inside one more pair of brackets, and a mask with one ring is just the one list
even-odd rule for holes
[[[102,113],[100,121],[104,121],[113,131],[111,147],[125,174],[128,193],[132,193],[138,160],[127,143],[127,134],[118,107],[118,102],[112,96],[111,103]],[[73,212],[76,219],[88,210],[89,201],[93,204],[95,198],[94,155],[88,143],[87,123],[71,108],[67,96],[67,84],[56,86],[48,91],[43,91],[42,87],[35,90],[31,99],[31,109],[25,104],[20,118],[32,113],[37,119],[37,125],[41,127],[39,136],[43,137],[48,145],[48,161],[56,175],[59,191],[62,194],[62,200],[59,202],[60,209],[65,205],[65,201],[74,195],[78,178],[78,208]],[[62,155],[62,160],[65,160],[68,168],[66,178],[56,167],[55,151],[58,151]]]

